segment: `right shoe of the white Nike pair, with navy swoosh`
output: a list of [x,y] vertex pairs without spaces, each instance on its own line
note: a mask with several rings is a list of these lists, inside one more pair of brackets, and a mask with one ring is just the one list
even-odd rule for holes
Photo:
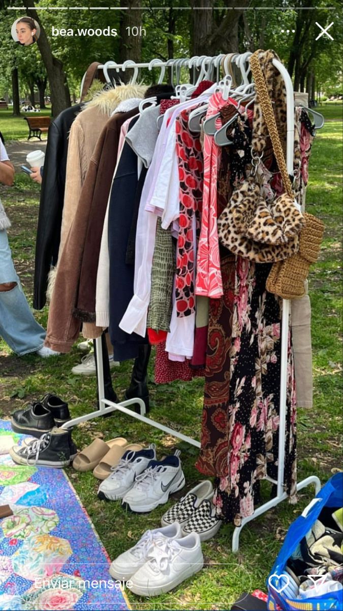
[[180,451],[164,460],[153,460],[137,475],[131,490],[123,497],[123,505],[131,511],[144,513],[167,503],[169,495],[184,487],[185,480],[179,459]]

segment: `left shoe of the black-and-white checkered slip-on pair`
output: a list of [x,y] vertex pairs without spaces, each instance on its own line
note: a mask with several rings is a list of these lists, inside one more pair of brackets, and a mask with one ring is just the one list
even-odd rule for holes
[[201,501],[204,499],[212,500],[213,496],[214,489],[211,481],[201,481],[200,484],[187,492],[186,496],[182,497],[178,503],[165,512],[161,518],[162,526],[173,524],[173,522],[176,521],[178,521],[181,526],[186,525],[190,516],[192,516],[196,508],[199,507]]

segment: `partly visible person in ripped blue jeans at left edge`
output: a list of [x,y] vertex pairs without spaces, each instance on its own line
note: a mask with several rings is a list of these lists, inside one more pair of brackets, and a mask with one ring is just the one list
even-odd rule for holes
[[[0,141],[0,183],[12,186],[13,178],[14,167]],[[43,347],[45,330],[32,315],[13,265],[7,237],[9,227],[0,200],[0,336],[19,356],[34,352],[42,357],[51,356],[52,351]]]

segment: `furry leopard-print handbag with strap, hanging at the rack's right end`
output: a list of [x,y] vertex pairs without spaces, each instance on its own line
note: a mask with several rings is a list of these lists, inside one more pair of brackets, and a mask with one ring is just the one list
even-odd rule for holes
[[[269,130],[276,161],[278,161],[283,177],[285,192],[272,202],[268,202],[261,195],[261,188],[255,178],[253,176],[248,177],[234,191],[227,207],[218,219],[218,236],[222,244],[234,254],[258,263],[273,263],[291,257],[298,251],[298,234],[305,224],[305,219],[297,207],[291,181],[287,174],[283,148],[269,98],[269,93],[272,94],[272,90],[269,92],[264,81],[264,75],[259,65],[259,53],[261,52],[257,51],[252,56],[252,58],[255,57],[255,70],[253,70],[253,65],[251,65],[251,69],[256,81],[257,115],[265,119],[265,123],[259,124],[260,133],[254,133],[253,143],[255,140],[255,144],[258,145],[258,152],[263,152],[268,136],[266,128]],[[264,68],[267,71],[267,83],[271,84],[273,79],[270,73],[275,54],[273,51],[262,52],[262,54],[263,57],[268,59],[268,61],[265,61]],[[259,70],[256,70],[256,62]],[[275,75],[275,70],[273,73]],[[281,98],[282,93],[280,89]],[[261,106],[260,114],[259,106]],[[282,119],[281,110],[278,116]],[[270,115],[272,115],[272,118]],[[255,111],[254,120],[256,127]]]

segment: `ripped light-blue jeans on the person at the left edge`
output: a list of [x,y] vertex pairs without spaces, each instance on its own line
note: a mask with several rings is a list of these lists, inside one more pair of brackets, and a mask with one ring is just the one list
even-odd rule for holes
[[16,283],[0,291],[0,336],[18,354],[29,354],[42,348],[45,331],[34,318],[13,265],[6,230],[0,230],[0,284]]

